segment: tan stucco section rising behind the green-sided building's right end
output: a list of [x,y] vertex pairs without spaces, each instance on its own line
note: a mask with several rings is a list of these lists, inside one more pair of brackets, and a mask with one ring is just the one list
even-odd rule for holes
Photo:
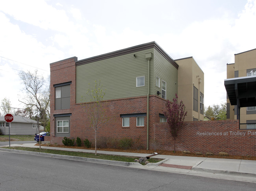
[[204,72],[193,57],[175,60],[178,68],[178,101],[186,106],[185,121],[204,121]]

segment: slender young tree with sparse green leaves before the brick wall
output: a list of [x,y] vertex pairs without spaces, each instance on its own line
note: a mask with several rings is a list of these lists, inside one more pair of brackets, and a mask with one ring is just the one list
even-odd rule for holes
[[[90,98],[90,103],[82,104],[84,111],[87,116],[91,119],[91,128],[95,131],[95,155],[97,154],[97,131],[107,121],[107,113],[102,103],[103,98],[106,94],[106,90],[102,90],[100,82],[95,81],[95,86],[89,88],[86,92]],[[106,104],[106,102],[105,102]]]

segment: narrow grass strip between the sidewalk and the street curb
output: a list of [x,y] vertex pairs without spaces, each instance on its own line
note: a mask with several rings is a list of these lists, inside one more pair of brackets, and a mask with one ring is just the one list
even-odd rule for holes
[[[3,148],[9,149],[9,147],[3,147]],[[104,160],[115,160],[115,161],[123,161],[123,162],[134,162],[134,160],[136,159],[135,157],[129,157],[129,156],[108,155],[108,154],[95,155],[95,153],[60,151],[60,150],[52,150],[52,149],[41,149],[40,151],[39,148],[30,148],[30,147],[11,147],[10,149],[17,149],[22,151],[33,151],[33,152],[45,152],[45,153],[52,153],[52,154],[62,154],[62,155],[69,155],[69,156],[80,156],[85,158],[97,158],[97,159],[104,159]],[[156,158],[148,159],[150,163],[156,163],[161,160],[162,159],[156,159]],[[143,165],[143,163],[141,164]]]

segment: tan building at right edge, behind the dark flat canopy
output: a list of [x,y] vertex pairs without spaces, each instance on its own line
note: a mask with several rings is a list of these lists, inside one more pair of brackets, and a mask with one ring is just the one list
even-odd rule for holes
[[[256,49],[235,54],[235,63],[227,64],[227,78],[256,75]],[[236,105],[230,105],[227,97],[227,119],[237,119]],[[240,123],[256,123],[256,106],[240,109]],[[255,124],[242,126],[243,129],[256,129]]]

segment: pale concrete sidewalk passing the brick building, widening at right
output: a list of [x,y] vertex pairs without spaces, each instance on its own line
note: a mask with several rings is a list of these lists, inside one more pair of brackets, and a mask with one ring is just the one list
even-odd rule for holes
[[[8,145],[9,146],[9,145]],[[11,147],[33,147],[35,143],[24,143],[24,144],[13,144]],[[55,149],[55,150],[65,150],[65,151],[78,151],[78,152],[91,152],[94,150],[86,149],[70,149],[61,147],[41,147],[42,149]],[[2,149],[0,150],[9,150]],[[12,151],[13,152],[13,151]],[[15,151],[20,152],[20,151]],[[135,156],[135,157],[146,157],[150,154],[142,153],[131,153],[131,152],[110,152],[110,151],[97,151],[98,154],[110,154],[110,155],[123,155],[123,156]],[[33,154],[28,152],[27,154]],[[129,166],[140,169],[150,169],[154,171],[164,171],[171,173],[182,173],[191,174],[197,176],[206,176],[211,178],[221,178],[228,180],[239,180],[256,183],[256,161],[254,160],[234,160],[234,159],[220,159],[220,158],[205,158],[205,157],[188,157],[188,156],[169,156],[169,155],[156,155],[151,158],[161,158],[163,159],[158,163],[149,163],[145,166],[139,163],[127,163],[127,162],[117,162],[109,160],[99,160],[99,159],[89,159],[82,157],[64,156],[64,155],[54,155],[37,153],[42,156],[49,156],[55,158],[65,158],[69,160],[80,160],[95,163],[104,163],[110,165],[119,166]]]

